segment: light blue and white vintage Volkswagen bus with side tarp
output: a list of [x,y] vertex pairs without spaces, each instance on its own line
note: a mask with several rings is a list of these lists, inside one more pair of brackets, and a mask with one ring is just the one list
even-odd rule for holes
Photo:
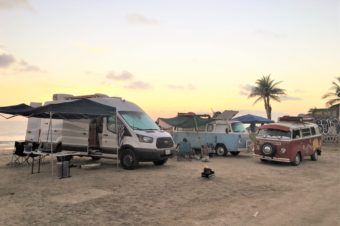
[[186,138],[194,149],[210,144],[218,156],[226,156],[228,152],[236,156],[240,151],[246,151],[250,142],[243,123],[232,120],[214,120],[198,127],[197,131],[194,128],[175,128],[172,135],[175,143]]

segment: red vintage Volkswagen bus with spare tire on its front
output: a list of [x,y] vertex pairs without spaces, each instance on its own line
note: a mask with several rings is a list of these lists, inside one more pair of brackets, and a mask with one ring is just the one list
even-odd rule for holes
[[282,117],[278,123],[260,127],[254,155],[261,161],[288,162],[299,165],[305,156],[312,161],[321,155],[321,134],[318,125],[301,117]]

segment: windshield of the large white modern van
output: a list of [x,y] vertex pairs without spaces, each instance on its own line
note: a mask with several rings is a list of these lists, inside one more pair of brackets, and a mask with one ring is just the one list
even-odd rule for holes
[[133,130],[159,130],[156,123],[144,112],[120,111],[119,113]]

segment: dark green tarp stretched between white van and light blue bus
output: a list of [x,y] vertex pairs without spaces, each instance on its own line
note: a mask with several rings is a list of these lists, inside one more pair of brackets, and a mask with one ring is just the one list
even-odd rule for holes
[[199,116],[177,116],[174,118],[159,118],[159,120],[178,128],[196,128],[214,121],[214,119],[204,119]]

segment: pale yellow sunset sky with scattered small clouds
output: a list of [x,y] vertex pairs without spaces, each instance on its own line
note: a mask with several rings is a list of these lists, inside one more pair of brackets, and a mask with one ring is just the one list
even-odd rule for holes
[[337,0],[0,0],[0,106],[104,93],[154,119],[224,109],[271,74],[275,114],[325,107],[340,76]]

